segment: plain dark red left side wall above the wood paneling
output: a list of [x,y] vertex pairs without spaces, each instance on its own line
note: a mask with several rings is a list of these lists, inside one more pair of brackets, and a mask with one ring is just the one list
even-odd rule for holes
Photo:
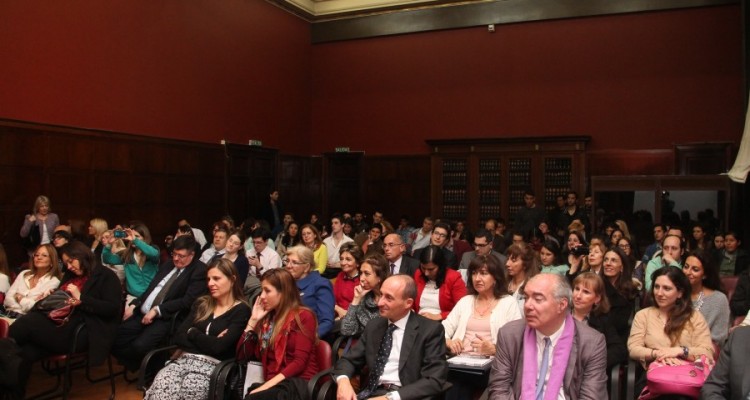
[[308,23],[260,0],[4,2],[0,118],[307,153]]

